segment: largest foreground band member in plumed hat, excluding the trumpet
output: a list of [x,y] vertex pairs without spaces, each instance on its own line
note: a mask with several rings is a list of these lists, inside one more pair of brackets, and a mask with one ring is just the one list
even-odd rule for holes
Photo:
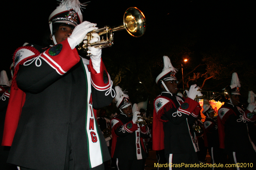
[[64,0],[52,12],[53,46],[15,51],[2,145],[12,146],[7,162],[20,170],[104,169],[110,159],[94,108],[108,106],[115,90],[101,49],[89,47],[90,61],[77,53],[76,45],[97,29],[82,22],[81,5]]

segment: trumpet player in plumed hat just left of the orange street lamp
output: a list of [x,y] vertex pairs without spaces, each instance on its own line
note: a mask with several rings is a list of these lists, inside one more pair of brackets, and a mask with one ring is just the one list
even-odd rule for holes
[[[189,125],[200,113],[201,107],[195,101],[196,95],[202,96],[199,87],[191,85],[184,100],[177,93],[175,69],[168,56],[164,56],[164,69],[157,76],[156,84],[162,93],[154,101],[153,113],[153,150],[164,149],[169,164],[198,164],[197,148]],[[179,169],[179,167],[169,167]],[[183,167],[184,168],[184,167]],[[199,168],[200,169],[200,168]]]

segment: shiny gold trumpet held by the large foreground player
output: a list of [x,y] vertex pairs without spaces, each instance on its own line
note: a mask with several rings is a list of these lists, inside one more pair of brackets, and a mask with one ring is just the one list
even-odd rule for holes
[[[120,31],[123,29],[126,29],[126,31],[133,37],[142,36],[146,31],[146,19],[144,14],[136,7],[128,8],[124,13],[123,24],[114,28],[105,26],[87,33],[87,39],[85,39],[87,43],[82,42],[79,44],[77,49],[80,52],[86,52],[88,51],[88,46],[95,48],[110,47],[113,45],[114,40],[114,34],[112,32]],[[104,35],[106,37],[104,38],[104,36],[101,36],[100,41],[90,43],[90,40],[93,38],[92,33],[98,33],[100,36]]]

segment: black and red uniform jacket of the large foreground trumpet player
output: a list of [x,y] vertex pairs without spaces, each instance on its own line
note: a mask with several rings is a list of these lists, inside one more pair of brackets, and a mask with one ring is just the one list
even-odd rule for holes
[[[115,96],[102,60],[97,73],[91,60],[79,57],[67,39],[47,50],[28,44],[14,55],[17,77],[13,88],[25,92],[25,101],[20,105],[23,107],[13,141],[10,139],[7,162],[31,169],[62,170],[68,133],[80,169],[109,160],[94,111],[109,105]],[[9,101],[9,105],[16,104]],[[7,125],[4,128],[8,129]],[[6,131],[5,137],[9,137]],[[6,141],[2,145],[8,144]]]

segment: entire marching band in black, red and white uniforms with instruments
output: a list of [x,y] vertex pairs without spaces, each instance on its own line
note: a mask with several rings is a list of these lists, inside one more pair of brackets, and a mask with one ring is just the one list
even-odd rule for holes
[[[113,44],[112,29],[83,22],[83,6],[78,0],[61,1],[49,17],[48,47],[25,43],[14,53],[12,82],[1,72],[0,130],[2,146],[10,149],[3,156],[4,169],[144,170],[150,143],[159,164],[205,164],[208,149],[212,164],[256,166],[248,131],[256,120],[256,95],[249,92],[248,107],[239,107],[235,72],[231,85],[222,89],[225,101],[217,113],[209,102],[199,104],[203,94],[197,85],[177,94],[178,70],[164,56],[164,69],[156,77],[161,94],[148,115],[148,102],[132,103],[129,92],[113,85],[101,59],[101,48]],[[129,26],[128,32],[138,31],[133,36],[143,35],[146,21],[139,9],[129,8],[125,18],[113,31]],[[108,33],[109,41],[100,38]],[[80,55],[81,48],[88,56]],[[111,103],[118,112],[107,116]]]

